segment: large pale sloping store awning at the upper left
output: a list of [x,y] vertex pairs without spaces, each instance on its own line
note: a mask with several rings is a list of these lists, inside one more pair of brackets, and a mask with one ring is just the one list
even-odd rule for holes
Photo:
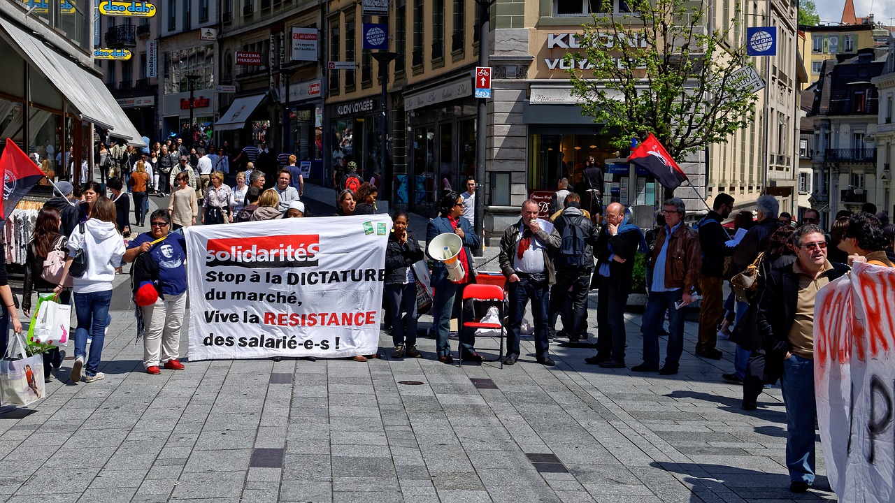
[[21,56],[78,109],[82,120],[109,130],[134,147],[148,146],[102,81],[12,22],[0,19],[0,27],[7,42],[21,49]]

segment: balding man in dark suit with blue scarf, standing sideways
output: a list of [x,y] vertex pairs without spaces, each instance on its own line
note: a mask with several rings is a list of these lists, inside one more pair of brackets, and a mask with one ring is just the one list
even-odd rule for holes
[[625,305],[631,293],[637,251],[646,252],[640,228],[625,223],[625,207],[613,202],[606,207],[606,225],[597,236],[597,354],[585,363],[604,369],[625,368]]

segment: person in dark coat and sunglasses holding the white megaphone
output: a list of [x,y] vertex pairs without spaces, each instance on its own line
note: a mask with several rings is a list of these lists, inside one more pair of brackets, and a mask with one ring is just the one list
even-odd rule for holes
[[[462,303],[463,289],[470,283],[475,283],[473,271],[473,254],[471,250],[478,248],[482,242],[473,231],[469,220],[463,217],[463,198],[457,192],[448,192],[439,202],[440,216],[433,218],[426,227],[426,253],[429,252],[429,243],[439,234],[452,233],[463,240],[463,250],[458,253],[457,260],[463,266],[464,277],[459,281],[451,281],[447,277],[447,268],[444,262],[435,260],[432,267],[432,287],[435,288],[435,298],[432,301],[432,319],[435,324],[435,349],[438,352],[439,362],[453,363],[454,358],[450,353],[450,343],[447,336],[450,334],[450,319],[455,309],[455,304]],[[463,303],[463,318],[473,320],[473,305],[471,302]],[[466,362],[482,362],[482,356],[475,352],[475,332],[469,328],[458,328],[460,332],[460,357]]]

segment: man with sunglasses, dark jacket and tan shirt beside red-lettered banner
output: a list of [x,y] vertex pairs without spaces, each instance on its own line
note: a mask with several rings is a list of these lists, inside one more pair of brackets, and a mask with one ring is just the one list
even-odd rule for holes
[[819,226],[800,226],[791,240],[797,260],[766,277],[757,326],[768,347],[764,375],[780,377],[786,405],[789,490],[805,492],[814,482],[814,299],[848,267],[827,260]]

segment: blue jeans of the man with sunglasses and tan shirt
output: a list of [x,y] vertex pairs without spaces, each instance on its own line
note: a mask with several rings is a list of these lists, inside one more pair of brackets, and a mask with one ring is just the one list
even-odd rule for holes
[[790,481],[814,482],[814,360],[793,354],[780,378],[786,405],[786,465]]

